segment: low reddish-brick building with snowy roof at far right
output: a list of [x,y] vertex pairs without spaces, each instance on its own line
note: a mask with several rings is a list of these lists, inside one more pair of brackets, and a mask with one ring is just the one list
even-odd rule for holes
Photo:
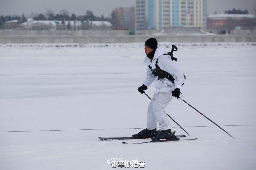
[[209,14],[209,30],[252,29],[256,26],[255,15],[252,14]]

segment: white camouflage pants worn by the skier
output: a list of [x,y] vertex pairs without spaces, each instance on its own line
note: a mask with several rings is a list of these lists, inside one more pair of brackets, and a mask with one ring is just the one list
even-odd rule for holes
[[171,92],[159,92],[154,94],[148,105],[147,129],[155,129],[157,126],[156,122],[158,122],[161,130],[172,129],[170,121],[164,110],[172,98],[173,96]]

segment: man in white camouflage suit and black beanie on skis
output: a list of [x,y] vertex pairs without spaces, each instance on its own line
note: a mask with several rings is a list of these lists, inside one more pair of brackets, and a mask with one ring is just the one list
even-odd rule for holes
[[[143,64],[147,65],[146,78],[138,91],[143,94],[144,90],[155,81],[156,90],[148,105],[147,128],[137,134],[134,138],[152,138],[152,140],[176,138],[172,133],[172,126],[167,118],[165,107],[173,97],[180,96],[181,86],[185,82],[185,76],[181,73],[172,56],[166,55],[163,48],[158,46],[155,38],[149,38],[145,42],[145,58]],[[157,122],[161,131],[157,132]]]

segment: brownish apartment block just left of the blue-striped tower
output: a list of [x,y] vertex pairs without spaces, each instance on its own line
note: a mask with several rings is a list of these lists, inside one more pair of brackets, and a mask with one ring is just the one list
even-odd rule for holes
[[112,13],[116,14],[119,21],[119,27],[125,27],[129,30],[134,30],[135,28],[135,8],[116,8],[112,10]]

